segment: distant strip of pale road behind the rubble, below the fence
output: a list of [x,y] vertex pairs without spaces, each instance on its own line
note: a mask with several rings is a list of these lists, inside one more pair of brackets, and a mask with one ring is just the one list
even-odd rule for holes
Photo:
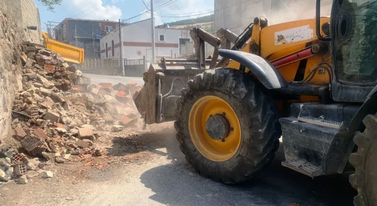
[[98,84],[101,82],[106,83],[123,83],[126,84],[130,81],[135,81],[137,85],[143,85],[144,81],[142,77],[119,77],[119,76],[105,76],[105,75],[92,75],[92,74],[83,74],[85,77],[90,77],[92,83]]

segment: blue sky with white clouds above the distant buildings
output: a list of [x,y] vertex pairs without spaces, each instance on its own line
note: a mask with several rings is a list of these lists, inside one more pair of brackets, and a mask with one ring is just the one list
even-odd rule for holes
[[[150,18],[150,13],[143,13],[150,9],[151,0],[144,0],[146,5],[142,0],[63,0],[61,5],[55,6],[54,12],[49,11],[39,0],[34,2],[39,9],[43,30],[46,30],[45,23],[48,24],[48,21],[61,22],[65,18],[118,21],[119,18],[129,19],[139,15],[131,19],[130,23]],[[155,10],[156,26],[210,13],[184,18],[177,18],[177,15],[197,15],[214,10],[214,0],[153,0],[153,3],[154,8],[161,5],[160,9]]]

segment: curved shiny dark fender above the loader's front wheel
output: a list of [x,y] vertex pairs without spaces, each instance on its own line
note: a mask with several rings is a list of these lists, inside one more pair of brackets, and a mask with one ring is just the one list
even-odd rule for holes
[[247,52],[218,50],[222,57],[239,62],[257,77],[267,89],[280,89],[288,87],[283,76],[266,59]]

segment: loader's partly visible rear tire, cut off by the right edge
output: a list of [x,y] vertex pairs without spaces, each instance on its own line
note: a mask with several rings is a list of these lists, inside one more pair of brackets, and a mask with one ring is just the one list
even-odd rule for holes
[[350,155],[350,163],[355,167],[350,183],[358,192],[353,204],[377,206],[377,114],[367,115],[363,123],[364,132],[353,139],[357,152]]

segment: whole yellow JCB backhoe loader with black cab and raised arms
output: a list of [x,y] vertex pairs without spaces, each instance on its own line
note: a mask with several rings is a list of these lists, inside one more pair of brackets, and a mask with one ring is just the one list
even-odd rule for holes
[[320,6],[314,19],[255,18],[241,35],[192,29],[197,58],[151,65],[134,95],[146,124],[175,121],[188,163],[225,183],[260,174],[282,136],[282,166],[354,171],[354,205],[377,206],[377,1],[334,0],[330,17]]

